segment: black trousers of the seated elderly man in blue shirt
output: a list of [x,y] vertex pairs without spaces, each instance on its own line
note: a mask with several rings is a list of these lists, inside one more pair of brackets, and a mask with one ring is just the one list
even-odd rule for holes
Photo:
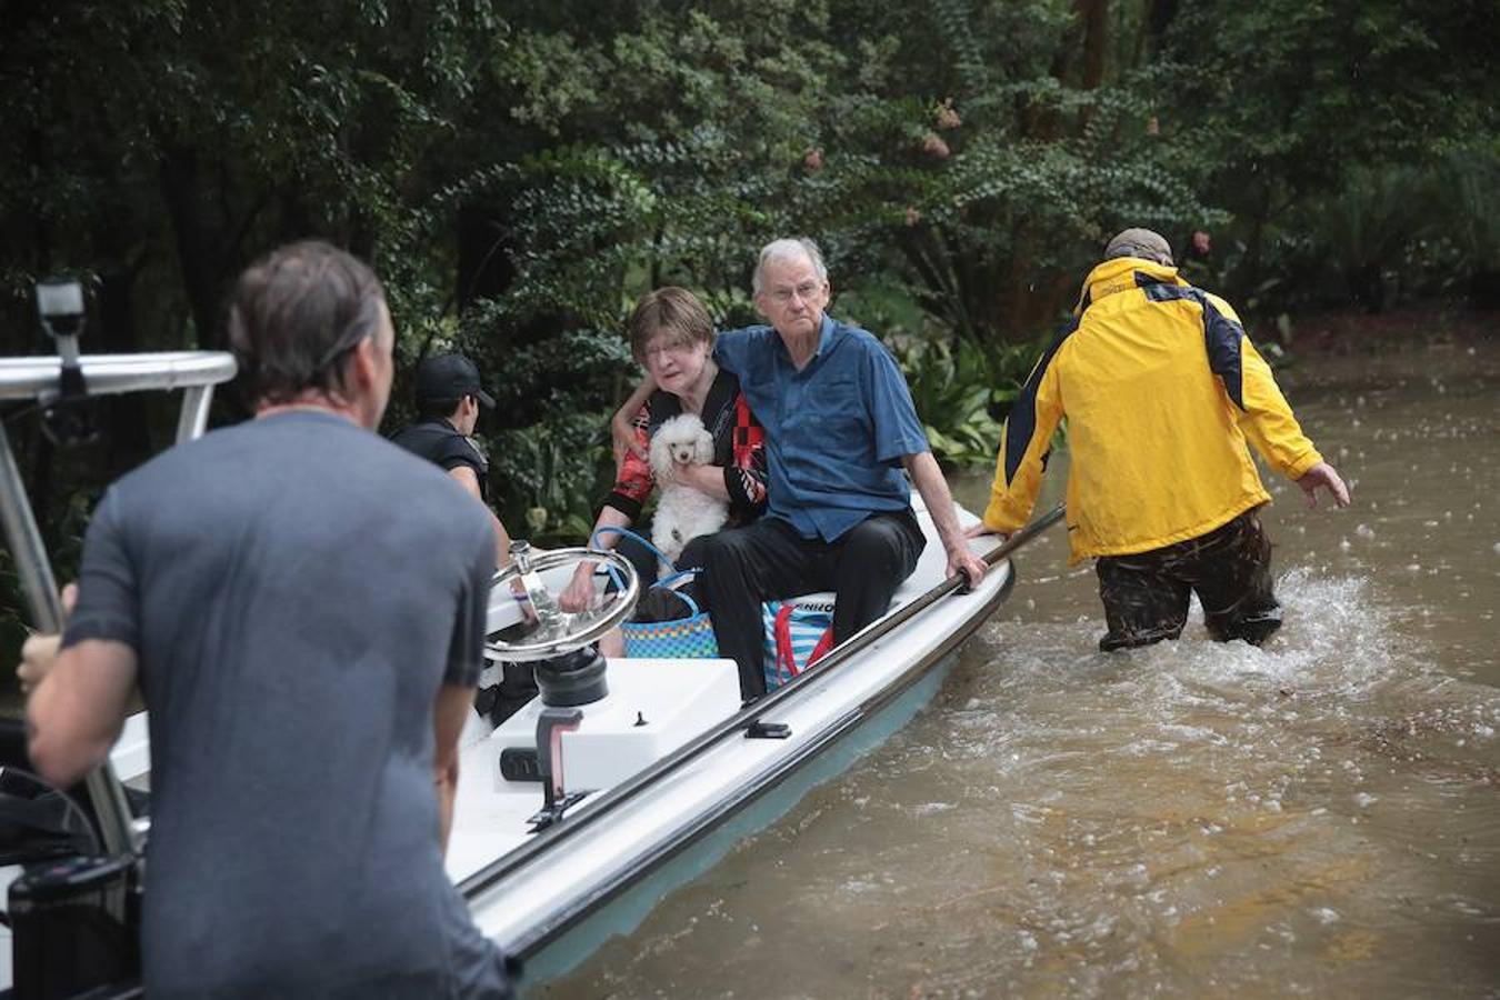
[[832,591],[834,642],[843,642],[886,612],[926,544],[910,508],[872,514],[837,541],[802,538],[770,517],[696,538],[694,565],[704,567],[696,589],[720,655],[740,666],[741,697],[765,694],[762,601]]

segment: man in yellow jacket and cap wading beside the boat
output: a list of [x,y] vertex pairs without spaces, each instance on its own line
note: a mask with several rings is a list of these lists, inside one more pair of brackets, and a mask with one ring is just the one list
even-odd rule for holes
[[1178,277],[1149,229],[1110,240],[1072,321],[1011,409],[984,523],[1026,523],[1058,423],[1068,421],[1072,562],[1094,556],[1108,634],[1101,649],[1176,639],[1197,592],[1209,634],[1258,645],[1281,625],[1270,501],[1246,438],[1317,505],[1348,489],[1302,433],[1228,303]]

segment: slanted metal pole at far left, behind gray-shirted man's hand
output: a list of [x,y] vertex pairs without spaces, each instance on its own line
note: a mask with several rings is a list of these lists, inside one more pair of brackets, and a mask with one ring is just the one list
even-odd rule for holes
[[[6,544],[15,559],[16,576],[26,591],[26,603],[32,621],[42,631],[63,630],[63,606],[57,595],[57,580],[42,547],[42,532],[36,526],[32,505],[26,499],[26,484],[21,469],[10,451],[10,438],[0,426],[0,517],[4,520]],[[99,838],[106,853],[123,855],[135,852],[135,831],[130,826],[130,805],[124,798],[124,786],[105,760],[84,780],[88,799],[99,825]]]

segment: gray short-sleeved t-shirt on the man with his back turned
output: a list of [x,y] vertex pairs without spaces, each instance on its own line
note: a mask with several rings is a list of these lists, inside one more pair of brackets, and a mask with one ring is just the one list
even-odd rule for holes
[[146,987],[506,996],[438,844],[432,709],[483,666],[489,519],[348,420],[216,430],[99,504],[64,643],[150,709]]

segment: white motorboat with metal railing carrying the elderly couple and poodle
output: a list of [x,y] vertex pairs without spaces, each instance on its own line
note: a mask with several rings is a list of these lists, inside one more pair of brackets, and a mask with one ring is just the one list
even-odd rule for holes
[[[58,370],[58,358],[0,361],[0,399],[56,397]],[[186,439],[202,432],[212,385],[232,375],[232,360],[212,352],[96,357],[84,358],[81,372],[90,393],[188,387],[178,423],[178,439]],[[0,477],[14,495],[20,477],[3,433]],[[470,718],[447,871],[482,931],[522,961],[524,984],[561,975],[609,936],[628,931],[670,888],[896,732],[938,690],[958,645],[1011,592],[1010,553],[1060,517],[1054,510],[1004,544],[975,540],[987,547],[992,570],[969,588],[945,579],[932,517],[914,501],[928,544],[890,612],[748,705],[741,705],[730,660],[597,655],[590,643],[630,612],[640,589],[618,555],[531,553],[522,546],[516,564],[496,574],[490,670],[506,660],[536,661],[542,697],[500,724],[477,712]],[[24,574],[33,613],[40,627],[56,628],[56,586],[24,495],[6,508],[12,552],[34,564]],[[958,513],[963,523],[975,522]],[[561,592],[584,558],[614,559],[628,583],[596,613],[560,615],[549,595]],[[525,601],[516,600],[520,589]],[[110,766],[88,780],[102,853],[130,862],[123,874],[110,867],[108,876],[120,891],[106,909],[123,925],[142,889],[135,861],[148,837],[148,817],[130,814],[124,789],[148,784],[148,760],[141,714],[128,720]],[[12,910],[14,903],[12,892]],[[12,967],[21,973],[20,939],[36,931],[24,921],[15,928]],[[10,957],[10,948],[3,952]],[[10,972],[0,967],[0,985]],[[15,996],[24,996],[22,979],[16,976]]]

